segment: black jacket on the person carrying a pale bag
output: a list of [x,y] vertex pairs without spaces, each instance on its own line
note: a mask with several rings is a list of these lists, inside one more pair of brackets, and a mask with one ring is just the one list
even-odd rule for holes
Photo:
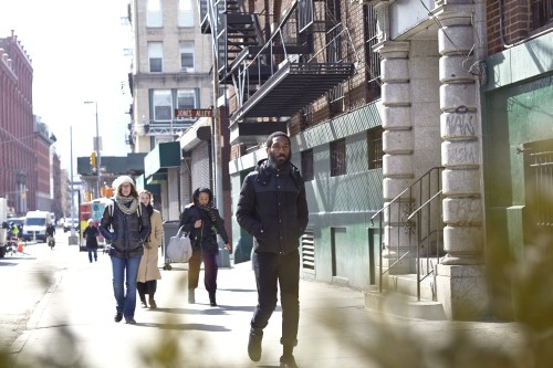
[[[190,243],[195,248],[201,248],[207,253],[218,253],[217,233],[221,235],[225,244],[229,242],[229,235],[225,229],[225,222],[219,215],[219,210],[209,208],[211,213],[194,203],[187,204],[185,211],[180,214],[180,225],[182,231],[190,233]],[[201,220],[201,227],[195,228],[194,223]]]

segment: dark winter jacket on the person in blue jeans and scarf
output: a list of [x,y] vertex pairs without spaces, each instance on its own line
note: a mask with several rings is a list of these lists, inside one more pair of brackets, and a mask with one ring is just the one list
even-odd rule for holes
[[118,206],[113,202],[113,217],[109,215],[109,206],[105,208],[98,228],[104,239],[111,243],[109,255],[119,259],[142,256],[143,244],[150,229],[146,206],[140,203],[140,213],[136,211],[132,214],[125,214]]

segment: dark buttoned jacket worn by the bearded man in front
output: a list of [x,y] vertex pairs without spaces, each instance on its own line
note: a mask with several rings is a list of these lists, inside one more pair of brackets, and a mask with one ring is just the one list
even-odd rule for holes
[[309,222],[300,170],[292,164],[278,169],[268,159],[260,160],[242,183],[236,214],[240,227],[253,235],[255,252],[296,250]]

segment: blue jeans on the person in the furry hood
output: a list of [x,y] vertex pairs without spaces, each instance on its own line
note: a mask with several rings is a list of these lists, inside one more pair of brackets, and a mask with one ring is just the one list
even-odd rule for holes
[[[117,313],[125,318],[134,318],[136,309],[136,277],[142,256],[119,259],[111,256],[113,271],[113,294]],[[126,285],[126,292],[125,292]]]

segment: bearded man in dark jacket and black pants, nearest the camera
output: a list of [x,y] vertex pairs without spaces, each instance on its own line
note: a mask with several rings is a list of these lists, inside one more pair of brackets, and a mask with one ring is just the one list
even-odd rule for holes
[[300,320],[300,236],[309,222],[305,186],[300,170],[290,162],[290,138],[285,133],[271,134],[265,150],[268,158],[244,178],[236,212],[240,227],[253,236],[252,265],[258,285],[248,355],[253,361],[261,359],[263,328],[276,306],[280,285],[280,367],[298,367],[293,349]]

